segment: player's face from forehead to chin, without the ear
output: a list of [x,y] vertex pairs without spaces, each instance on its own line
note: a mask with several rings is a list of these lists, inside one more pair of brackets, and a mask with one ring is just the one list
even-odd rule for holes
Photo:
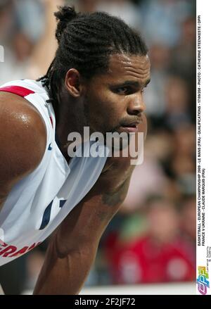
[[91,132],[136,132],[145,110],[143,89],[150,81],[148,56],[113,54],[108,72],[87,86],[87,120]]

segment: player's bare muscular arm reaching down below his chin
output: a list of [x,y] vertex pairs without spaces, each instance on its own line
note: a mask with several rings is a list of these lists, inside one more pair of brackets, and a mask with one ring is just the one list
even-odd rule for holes
[[[143,131],[146,120],[140,126]],[[129,158],[110,158],[107,166],[53,234],[34,294],[79,294],[82,289],[101,235],[124,201],[134,169]]]

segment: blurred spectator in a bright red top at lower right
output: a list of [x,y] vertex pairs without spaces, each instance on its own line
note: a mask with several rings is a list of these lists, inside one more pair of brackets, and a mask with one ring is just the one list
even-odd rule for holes
[[179,213],[161,198],[147,205],[148,232],[122,244],[116,237],[107,246],[110,272],[115,284],[177,282],[193,280],[193,251],[179,236]]

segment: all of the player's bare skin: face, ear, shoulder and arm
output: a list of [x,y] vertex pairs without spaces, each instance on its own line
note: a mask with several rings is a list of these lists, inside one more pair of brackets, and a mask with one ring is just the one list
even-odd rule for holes
[[[89,81],[77,70],[70,69],[59,94],[60,115],[56,127],[60,150],[66,160],[70,160],[68,134],[82,132],[87,124],[91,131],[105,134],[122,132],[122,126],[139,122],[139,132],[146,135],[143,89],[149,80],[148,56],[112,55],[108,72]],[[10,111],[16,115],[19,111],[25,116],[12,118]],[[1,134],[0,140],[4,145],[4,150],[0,150],[3,170],[0,203],[3,205],[13,184],[41,161],[46,132],[39,113],[18,96],[0,93],[0,115],[0,132],[6,132]],[[18,139],[15,146],[14,134]],[[94,187],[54,231],[34,294],[78,294],[82,289],[101,235],[126,197],[134,169],[130,159],[108,158]],[[21,163],[18,171],[17,160]]]

